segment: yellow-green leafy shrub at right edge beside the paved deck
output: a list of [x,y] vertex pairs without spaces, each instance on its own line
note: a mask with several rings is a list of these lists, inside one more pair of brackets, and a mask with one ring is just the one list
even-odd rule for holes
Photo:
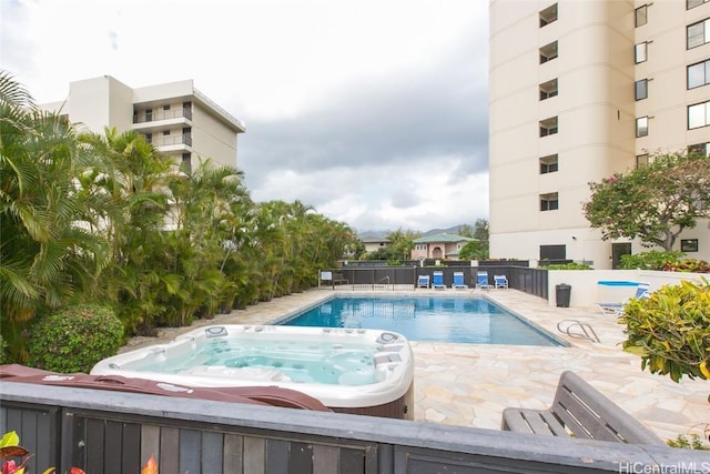
[[648,299],[632,299],[619,322],[627,325],[623,349],[641,356],[641,370],[710,379],[710,283],[681,281]]

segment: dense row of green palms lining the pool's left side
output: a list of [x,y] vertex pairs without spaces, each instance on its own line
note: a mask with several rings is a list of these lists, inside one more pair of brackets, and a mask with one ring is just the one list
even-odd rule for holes
[[[109,303],[128,334],[317,284],[357,240],[298,201],[255,204],[234,168],[192,171],[135,132],[77,133],[0,73],[2,341],[27,362],[32,320]],[[362,242],[361,242],[362,244]]]

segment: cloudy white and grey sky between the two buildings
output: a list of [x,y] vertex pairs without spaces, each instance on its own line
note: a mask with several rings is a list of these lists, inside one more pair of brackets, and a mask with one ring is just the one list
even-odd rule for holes
[[488,219],[484,0],[0,0],[0,68],[34,99],[103,74],[193,79],[246,123],[256,201],[357,231]]

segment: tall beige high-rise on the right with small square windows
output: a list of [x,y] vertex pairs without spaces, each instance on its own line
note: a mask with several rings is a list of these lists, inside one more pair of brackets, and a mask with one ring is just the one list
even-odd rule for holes
[[[649,153],[710,153],[710,0],[490,0],[490,255],[616,266],[589,182]],[[710,260],[710,223],[679,242]]]

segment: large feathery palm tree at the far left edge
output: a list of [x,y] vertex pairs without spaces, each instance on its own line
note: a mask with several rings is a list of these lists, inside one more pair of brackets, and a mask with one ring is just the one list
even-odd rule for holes
[[101,168],[60,115],[40,111],[0,72],[0,301],[3,336],[21,360],[20,333],[43,309],[81,301],[106,263],[106,241],[92,233],[102,202],[80,177]]

